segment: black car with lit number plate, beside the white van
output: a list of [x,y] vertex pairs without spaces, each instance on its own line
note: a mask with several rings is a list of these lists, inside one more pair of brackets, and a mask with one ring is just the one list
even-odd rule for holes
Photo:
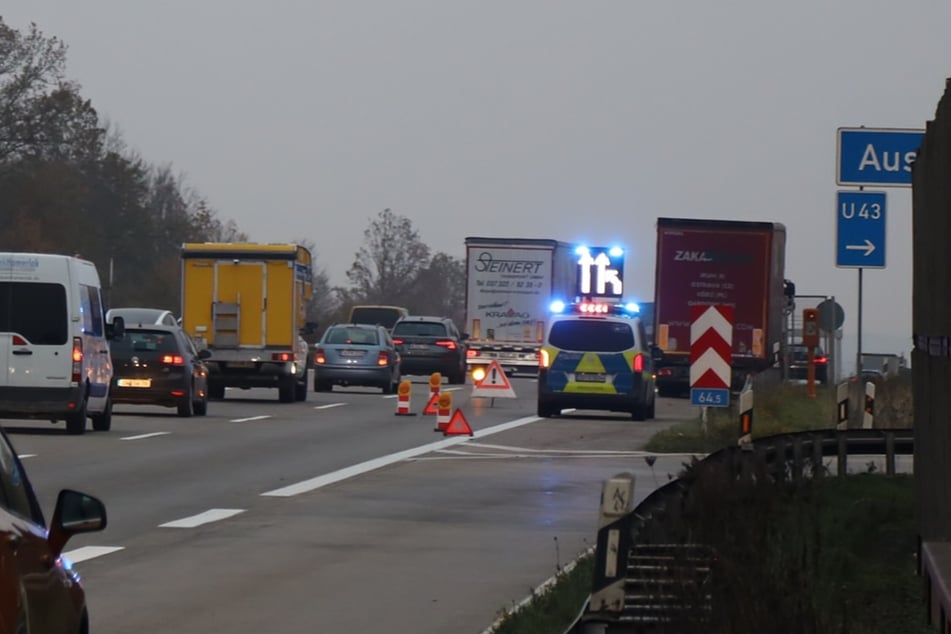
[[207,350],[197,351],[179,326],[125,329],[112,342],[113,404],[175,407],[179,416],[208,412]]

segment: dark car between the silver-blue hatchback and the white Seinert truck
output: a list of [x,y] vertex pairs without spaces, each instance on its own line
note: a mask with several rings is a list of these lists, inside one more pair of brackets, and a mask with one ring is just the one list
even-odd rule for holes
[[403,317],[393,326],[393,343],[403,374],[439,372],[450,383],[466,382],[466,340],[446,317]]

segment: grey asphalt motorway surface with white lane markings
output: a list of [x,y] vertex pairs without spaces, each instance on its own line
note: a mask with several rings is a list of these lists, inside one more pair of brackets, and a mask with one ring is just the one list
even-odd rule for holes
[[[67,545],[94,634],[479,634],[594,544],[605,478],[634,472],[640,500],[675,475],[689,457],[641,448],[697,416],[659,399],[654,421],[541,420],[534,380],[512,383],[494,402],[452,386],[472,436],[357,388],[229,389],[188,419],[117,406],[83,436],[4,426],[47,516],[63,487],[106,503],[106,530]],[[428,390],[414,377],[413,412]]]

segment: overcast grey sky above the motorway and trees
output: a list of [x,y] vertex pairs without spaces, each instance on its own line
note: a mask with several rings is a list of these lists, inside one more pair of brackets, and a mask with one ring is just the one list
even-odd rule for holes
[[[312,240],[332,283],[389,207],[467,235],[628,249],[659,216],[777,221],[787,277],[844,307],[836,129],[923,128],[951,76],[946,0],[5,0],[130,148],[252,240]],[[889,188],[863,349],[908,352],[911,190]],[[882,349],[887,347],[888,349]]]

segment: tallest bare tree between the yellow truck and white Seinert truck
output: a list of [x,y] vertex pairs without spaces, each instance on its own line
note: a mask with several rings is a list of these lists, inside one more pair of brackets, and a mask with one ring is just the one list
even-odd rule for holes
[[429,247],[413,223],[384,209],[363,232],[363,246],[347,271],[347,295],[352,301],[402,306],[428,261]]

